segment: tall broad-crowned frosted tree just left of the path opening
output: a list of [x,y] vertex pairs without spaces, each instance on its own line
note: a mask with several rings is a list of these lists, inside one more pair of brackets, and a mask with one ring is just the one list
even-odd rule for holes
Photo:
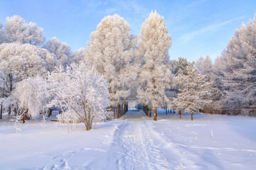
[[130,35],[127,21],[114,14],[103,18],[90,38],[85,61],[91,63],[110,84],[110,104],[117,106],[119,118],[120,104],[130,95],[127,86],[136,78],[131,69],[136,37]]

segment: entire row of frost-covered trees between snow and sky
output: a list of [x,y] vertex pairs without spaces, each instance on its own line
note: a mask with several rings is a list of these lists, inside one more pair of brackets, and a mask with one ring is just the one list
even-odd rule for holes
[[[256,17],[242,24],[217,57],[188,62],[169,56],[171,35],[164,17],[151,12],[132,35],[124,18],[106,16],[87,48],[71,51],[20,16],[0,24],[0,106],[23,121],[58,107],[63,123],[120,118],[137,101],[154,120],[157,108],[176,113],[255,114]],[[19,115],[19,116],[18,116]],[[22,115],[22,116],[20,116]]]

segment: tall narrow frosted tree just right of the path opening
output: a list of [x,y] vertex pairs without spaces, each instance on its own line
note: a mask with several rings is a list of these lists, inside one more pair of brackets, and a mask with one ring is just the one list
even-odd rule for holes
[[138,40],[142,67],[139,69],[140,86],[137,97],[140,103],[154,108],[154,120],[157,116],[157,107],[162,106],[161,101],[168,100],[164,91],[171,84],[171,70],[167,67],[169,47],[171,35],[165,26],[164,17],[151,12],[142,24]]

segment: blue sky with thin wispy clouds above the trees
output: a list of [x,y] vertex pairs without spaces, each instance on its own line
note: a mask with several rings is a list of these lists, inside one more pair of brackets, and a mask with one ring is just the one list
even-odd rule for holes
[[235,29],[255,16],[256,1],[0,0],[0,23],[5,23],[6,16],[19,15],[43,28],[46,39],[55,36],[78,50],[86,47],[90,33],[105,16],[119,14],[130,24],[131,33],[138,34],[151,10],[165,18],[173,38],[171,59],[186,57],[192,61],[210,55],[214,60]]

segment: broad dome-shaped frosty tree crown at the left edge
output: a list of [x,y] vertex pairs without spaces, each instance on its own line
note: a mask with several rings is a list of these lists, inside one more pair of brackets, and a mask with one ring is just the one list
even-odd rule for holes
[[54,55],[35,45],[16,42],[0,45],[0,68],[21,80],[36,75],[45,77],[53,71],[55,63]]

